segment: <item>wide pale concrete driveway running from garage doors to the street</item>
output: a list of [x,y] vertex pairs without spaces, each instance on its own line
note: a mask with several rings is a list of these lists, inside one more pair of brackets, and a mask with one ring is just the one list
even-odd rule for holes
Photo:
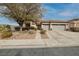
[[47,34],[49,39],[45,41],[50,47],[79,46],[79,32],[48,31]]

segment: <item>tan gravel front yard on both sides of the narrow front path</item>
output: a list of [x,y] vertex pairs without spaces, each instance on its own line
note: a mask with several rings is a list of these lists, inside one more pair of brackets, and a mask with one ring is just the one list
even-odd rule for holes
[[[12,36],[9,37],[9,38],[4,38],[4,39],[1,39],[0,37],[0,40],[27,40],[27,39],[36,39],[36,36],[38,36],[36,33],[38,31],[34,31],[34,30],[29,30],[29,31],[17,31],[17,32],[13,32],[12,33]],[[41,32],[41,30],[40,30]],[[49,39],[48,35],[46,33],[43,33],[41,34],[40,32],[38,32],[40,34],[40,37],[41,39]],[[47,32],[47,31],[46,31]]]

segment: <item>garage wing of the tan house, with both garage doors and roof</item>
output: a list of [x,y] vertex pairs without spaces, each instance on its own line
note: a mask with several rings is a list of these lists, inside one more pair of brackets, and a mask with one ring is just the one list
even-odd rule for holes
[[41,27],[45,30],[66,30],[68,29],[68,22],[61,20],[42,21]]

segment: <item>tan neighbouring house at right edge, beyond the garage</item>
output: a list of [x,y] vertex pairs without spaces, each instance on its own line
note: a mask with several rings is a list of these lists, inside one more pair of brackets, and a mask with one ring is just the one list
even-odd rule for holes
[[69,21],[69,29],[71,31],[79,31],[79,19],[73,19]]

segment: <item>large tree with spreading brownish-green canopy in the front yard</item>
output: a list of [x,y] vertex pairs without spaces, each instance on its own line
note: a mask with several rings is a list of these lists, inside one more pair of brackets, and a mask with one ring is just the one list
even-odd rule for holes
[[36,3],[13,3],[4,4],[9,9],[8,15],[16,19],[22,29],[26,21],[38,20],[42,17],[41,4]]

